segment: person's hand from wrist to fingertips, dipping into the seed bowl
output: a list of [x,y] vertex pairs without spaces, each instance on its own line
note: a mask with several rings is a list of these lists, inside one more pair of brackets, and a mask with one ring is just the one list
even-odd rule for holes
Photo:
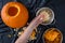
[[39,24],[41,24],[43,20],[43,15],[37,16],[32,22],[30,23],[30,27],[37,27]]

